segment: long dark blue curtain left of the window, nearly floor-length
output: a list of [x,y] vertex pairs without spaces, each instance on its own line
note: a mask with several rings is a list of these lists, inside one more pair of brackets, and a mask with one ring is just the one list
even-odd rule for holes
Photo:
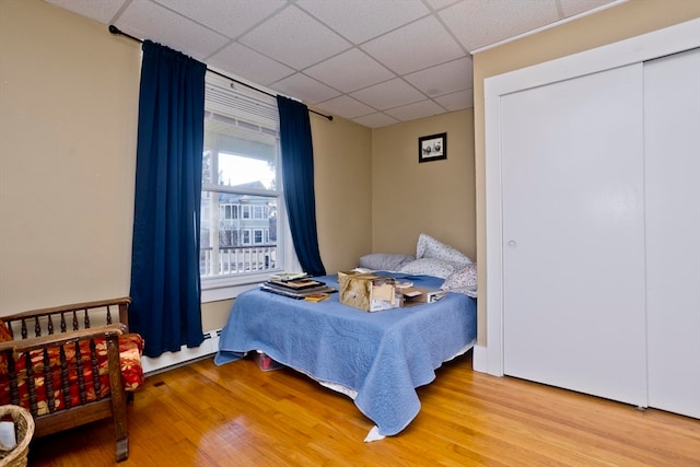
[[199,211],[207,66],[143,43],[129,327],[144,354],[198,347]]

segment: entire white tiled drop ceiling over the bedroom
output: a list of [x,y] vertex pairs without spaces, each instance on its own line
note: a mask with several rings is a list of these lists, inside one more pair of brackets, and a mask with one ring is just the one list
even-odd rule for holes
[[472,107],[471,52],[623,0],[45,1],[378,128]]

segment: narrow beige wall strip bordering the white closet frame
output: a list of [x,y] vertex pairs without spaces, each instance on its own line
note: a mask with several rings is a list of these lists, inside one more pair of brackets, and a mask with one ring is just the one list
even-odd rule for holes
[[508,71],[611,44],[700,16],[696,0],[631,0],[596,14],[495,47],[474,57],[479,266],[478,343],[486,345],[486,200],[483,80]]

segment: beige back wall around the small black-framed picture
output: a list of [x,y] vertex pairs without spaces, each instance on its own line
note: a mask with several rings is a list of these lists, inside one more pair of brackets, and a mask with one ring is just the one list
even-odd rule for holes
[[[447,133],[447,159],[418,162],[420,137]],[[416,254],[421,233],[476,259],[474,113],[454,112],[372,137],[372,252]]]

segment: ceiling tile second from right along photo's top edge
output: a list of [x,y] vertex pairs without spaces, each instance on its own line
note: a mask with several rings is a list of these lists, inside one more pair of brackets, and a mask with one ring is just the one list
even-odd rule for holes
[[469,51],[559,21],[555,0],[463,0],[440,17]]

